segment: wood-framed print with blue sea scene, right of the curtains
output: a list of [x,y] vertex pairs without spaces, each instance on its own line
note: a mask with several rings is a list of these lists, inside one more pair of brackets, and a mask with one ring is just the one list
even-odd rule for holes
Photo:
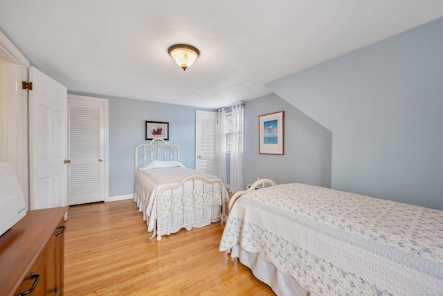
[[258,116],[258,153],[284,155],[284,111]]

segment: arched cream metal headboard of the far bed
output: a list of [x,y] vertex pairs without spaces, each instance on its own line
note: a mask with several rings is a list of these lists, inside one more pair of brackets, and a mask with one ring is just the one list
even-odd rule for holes
[[150,143],[138,145],[134,153],[135,173],[137,173],[138,168],[153,160],[175,160],[179,162],[179,146],[168,144],[163,139],[153,139]]

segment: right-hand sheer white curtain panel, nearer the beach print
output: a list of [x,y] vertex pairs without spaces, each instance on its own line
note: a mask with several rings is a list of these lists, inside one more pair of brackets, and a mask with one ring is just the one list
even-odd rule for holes
[[230,143],[230,191],[235,193],[243,188],[243,123],[244,104],[236,103],[232,106],[232,132]]

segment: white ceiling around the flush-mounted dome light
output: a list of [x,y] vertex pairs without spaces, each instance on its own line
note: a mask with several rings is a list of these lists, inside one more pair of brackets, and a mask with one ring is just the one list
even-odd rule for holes
[[[442,0],[0,0],[0,29],[68,92],[217,108],[443,17]],[[186,71],[172,44],[196,46]]]

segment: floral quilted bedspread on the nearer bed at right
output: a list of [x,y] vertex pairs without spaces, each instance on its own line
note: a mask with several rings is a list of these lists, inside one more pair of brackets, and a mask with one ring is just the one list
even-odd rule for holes
[[219,250],[237,243],[320,295],[443,294],[443,211],[280,184],[237,200]]

